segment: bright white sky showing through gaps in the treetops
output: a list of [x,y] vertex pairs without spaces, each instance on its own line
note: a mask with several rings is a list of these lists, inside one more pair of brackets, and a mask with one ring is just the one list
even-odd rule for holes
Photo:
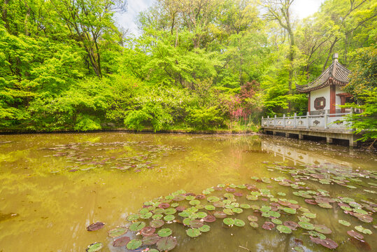
[[[292,12],[298,18],[306,18],[315,13],[325,0],[295,0]],[[128,0],[127,12],[115,15],[118,25],[128,29],[130,34],[140,34],[136,25],[136,17],[139,12],[147,10],[154,0]]]

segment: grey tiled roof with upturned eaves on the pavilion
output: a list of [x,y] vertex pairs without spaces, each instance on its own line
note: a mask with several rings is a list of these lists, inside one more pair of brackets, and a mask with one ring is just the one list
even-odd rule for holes
[[318,90],[322,87],[327,87],[330,83],[334,83],[337,86],[345,86],[348,84],[350,70],[342,66],[338,60],[334,60],[331,66],[329,66],[323,73],[316,78],[313,82],[306,85],[296,85],[296,90],[298,92],[311,92],[313,90]]

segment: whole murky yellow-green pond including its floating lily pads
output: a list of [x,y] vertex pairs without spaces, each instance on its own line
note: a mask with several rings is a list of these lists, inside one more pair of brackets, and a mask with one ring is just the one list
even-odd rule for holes
[[297,139],[2,135],[0,251],[376,251],[376,179]]

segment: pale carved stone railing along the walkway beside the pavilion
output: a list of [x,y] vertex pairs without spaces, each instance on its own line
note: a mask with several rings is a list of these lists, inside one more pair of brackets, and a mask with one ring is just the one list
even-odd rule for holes
[[[353,113],[352,111],[350,113]],[[348,130],[352,124],[345,121],[346,115],[350,113],[325,113],[322,115],[310,115],[306,116],[285,116],[282,118],[262,117],[262,127],[283,127],[290,129],[322,129],[322,130]]]

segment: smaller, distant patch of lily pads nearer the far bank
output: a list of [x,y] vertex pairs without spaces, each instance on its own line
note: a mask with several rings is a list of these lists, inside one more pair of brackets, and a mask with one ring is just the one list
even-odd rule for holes
[[[122,148],[127,147],[127,148]],[[157,167],[153,163],[157,158],[170,155],[174,151],[186,151],[183,146],[153,145],[149,141],[122,141],[111,143],[73,143],[59,144],[43,150],[54,151],[45,157],[65,157],[71,163],[69,172],[87,171],[96,167],[118,169],[120,171]],[[98,153],[99,155],[93,155]],[[54,171],[52,173],[57,173]]]

